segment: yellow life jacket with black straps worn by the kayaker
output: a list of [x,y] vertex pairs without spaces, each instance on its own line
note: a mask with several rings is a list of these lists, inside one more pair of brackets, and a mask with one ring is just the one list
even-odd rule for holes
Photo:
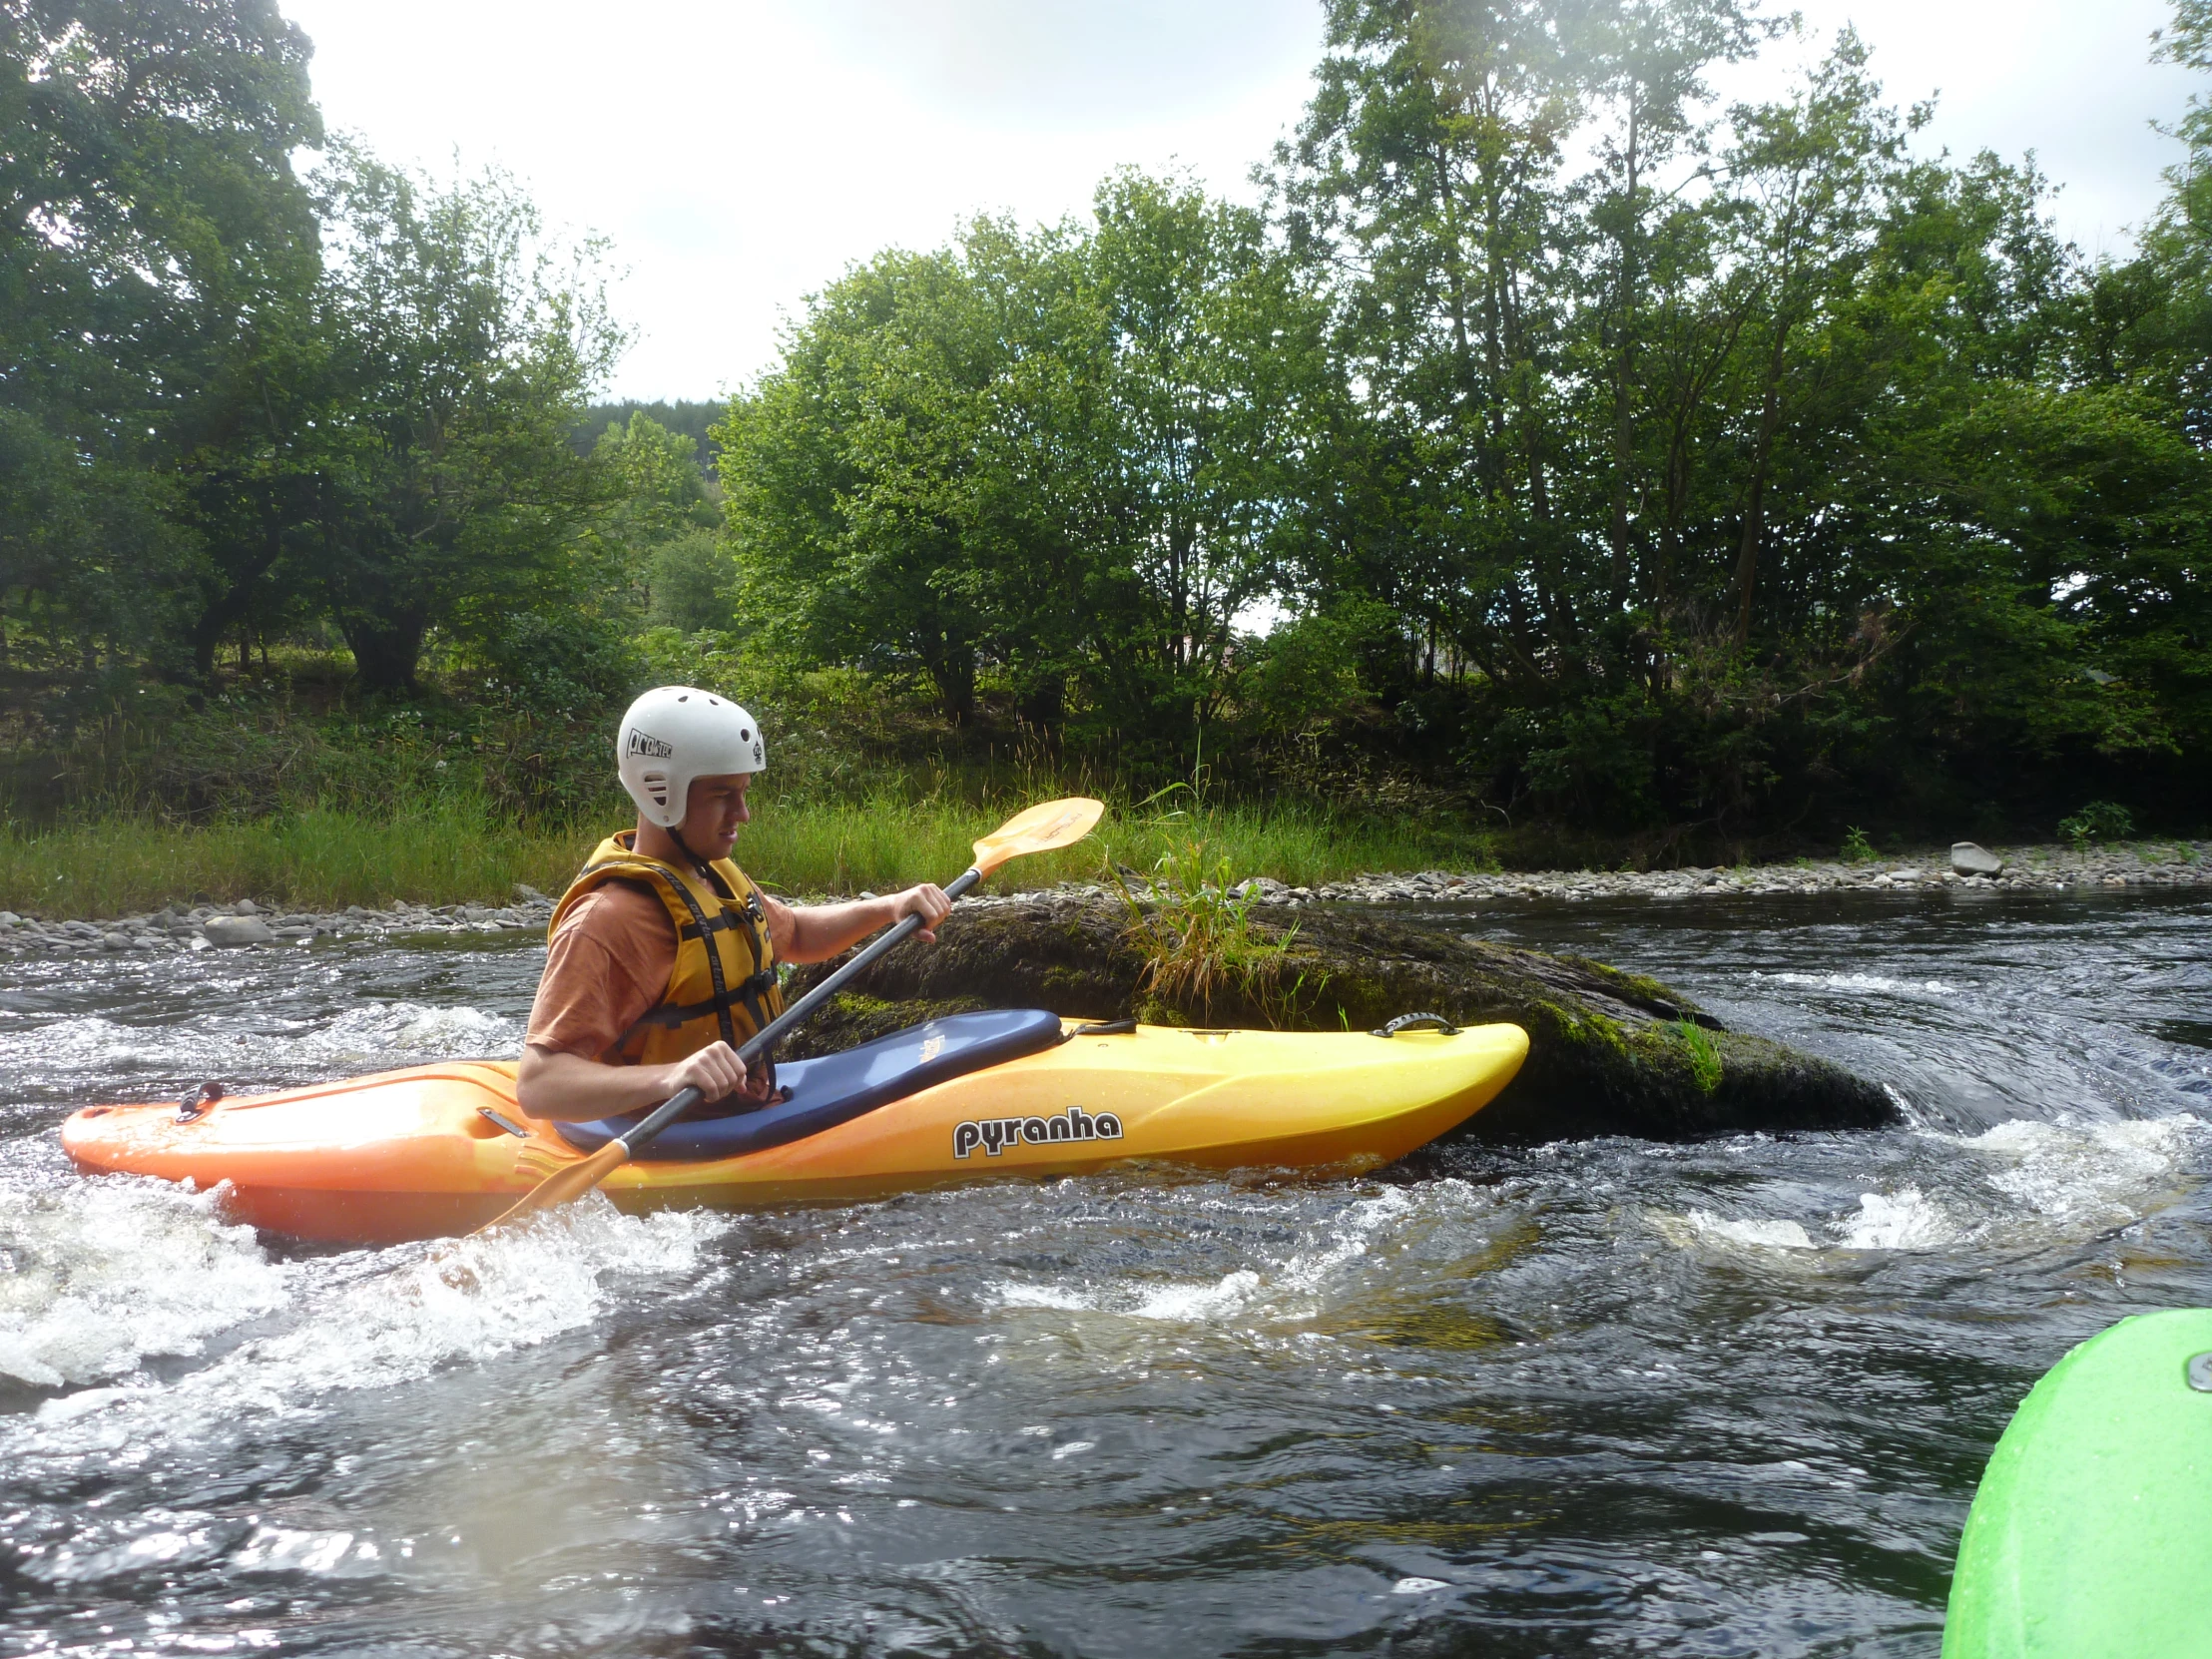
[[644,856],[633,847],[635,841],[637,832],[624,830],[597,845],[553,907],[546,936],[595,887],[611,880],[650,887],[677,929],[677,964],[661,1000],[622,1033],[617,1060],[626,1066],[661,1066],[699,1053],[717,1037],[737,1048],[783,1013],[776,947],[768,940],[761,894],[728,858],[717,858],[699,876]]

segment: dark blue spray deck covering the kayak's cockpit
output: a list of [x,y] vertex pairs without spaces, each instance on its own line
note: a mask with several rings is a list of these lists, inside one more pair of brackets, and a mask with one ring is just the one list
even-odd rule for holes
[[[1044,1009],[993,1009],[925,1020],[838,1055],[785,1060],[776,1066],[776,1082],[790,1091],[790,1099],[730,1117],[677,1119],[639,1150],[639,1159],[706,1164],[761,1152],[849,1124],[860,1113],[971,1071],[1042,1053],[1057,1042],[1060,1015]],[[635,1113],[588,1124],[555,1124],[555,1128],[580,1152],[597,1152],[617,1135],[637,1128],[644,1117],[646,1113]]]

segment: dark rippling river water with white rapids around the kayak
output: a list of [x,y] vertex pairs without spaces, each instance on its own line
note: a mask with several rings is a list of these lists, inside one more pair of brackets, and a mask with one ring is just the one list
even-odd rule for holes
[[2068,1345],[2212,1301],[2212,900],[1427,911],[1885,1133],[305,1252],[73,1106],[513,1053],[542,949],[0,964],[0,1652],[1933,1655]]

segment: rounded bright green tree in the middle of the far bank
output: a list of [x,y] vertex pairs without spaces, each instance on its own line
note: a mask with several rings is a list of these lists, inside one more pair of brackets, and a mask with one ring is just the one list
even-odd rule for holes
[[1024,719],[1175,754],[1296,540],[1323,321],[1259,215],[1135,173],[1091,226],[883,254],[717,429],[741,613],[956,723],[998,666]]

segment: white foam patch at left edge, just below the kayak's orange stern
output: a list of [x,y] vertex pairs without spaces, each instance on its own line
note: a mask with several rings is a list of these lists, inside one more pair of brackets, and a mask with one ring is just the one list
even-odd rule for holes
[[285,1303],[294,1270],[212,1192],[153,1179],[0,1183],[0,1376],[66,1387],[128,1376],[155,1354]]

